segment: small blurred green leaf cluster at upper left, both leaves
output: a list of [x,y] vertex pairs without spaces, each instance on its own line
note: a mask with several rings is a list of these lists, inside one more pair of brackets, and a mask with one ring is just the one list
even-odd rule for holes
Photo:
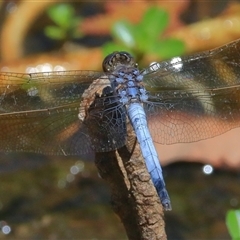
[[53,5],[47,10],[47,15],[55,23],[55,25],[47,26],[44,29],[45,35],[49,38],[67,41],[82,37],[83,34],[77,28],[82,19],[75,16],[72,5]]

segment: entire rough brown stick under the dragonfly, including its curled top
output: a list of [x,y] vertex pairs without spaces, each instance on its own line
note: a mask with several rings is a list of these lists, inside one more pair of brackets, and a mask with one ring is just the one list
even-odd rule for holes
[[[101,177],[110,185],[113,209],[120,217],[129,239],[165,240],[160,199],[147,172],[133,128],[127,119],[120,118],[120,114],[124,117],[124,109],[118,108],[110,93],[109,99],[106,97],[104,90],[108,87],[109,80],[106,78],[99,78],[91,84],[82,95],[80,119],[96,151],[114,149],[118,147],[118,141],[125,141],[125,124],[128,141],[126,146],[116,151],[96,152],[95,164]],[[101,97],[103,92],[104,97]],[[118,110],[111,111],[114,107]],[[110,120],[118,120],[119,125],[111,124]],[[110,134],[111,131],[113,134]]]

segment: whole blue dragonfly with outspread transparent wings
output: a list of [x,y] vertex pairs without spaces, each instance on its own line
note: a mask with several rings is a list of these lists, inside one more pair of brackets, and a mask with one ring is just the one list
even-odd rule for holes
[[239,126],[240,40],[144,69],[120,51],[103,71],[0,73],[0,151],[86,158],[137,138],[165,210],[154,142],[194,142]]

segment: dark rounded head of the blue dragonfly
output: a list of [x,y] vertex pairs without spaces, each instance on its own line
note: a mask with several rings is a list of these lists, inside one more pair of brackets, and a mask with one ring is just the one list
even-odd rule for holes
[[105,73],[113,72],[119,66],[136,67],[137,63],[130,53],[122,51],[109,54],[105,57],[102,64]]

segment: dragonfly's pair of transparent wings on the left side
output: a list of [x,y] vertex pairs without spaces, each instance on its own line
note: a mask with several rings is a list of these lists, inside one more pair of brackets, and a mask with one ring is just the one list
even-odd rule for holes
[[[91,98],[95,101],[91,104],[97,101],[99,105],[87,112],[87,118],[95,125],[86,125],[78,117],[80,108],[85,110],[85,106],[80,106],[82,95],[97,79],[106,80],[106,77],[94,71],[0,73],[0,151],[88,157],[92,149],[107,151],[123,146],[125,139],[115,142],[120,132],[116,128],[117,118],[123,113],[113,96],[94,100],[95,91],[88,96],[88,101]],[[96,86],[104,89],[106,83]],[[100,107],[102,102],[104,107]],[[105,114],[108,104],[115,105]],[[98,127],[104,130],[105,138],[95,144],[96,136],[90,137],[89,130],[94,134]]]

